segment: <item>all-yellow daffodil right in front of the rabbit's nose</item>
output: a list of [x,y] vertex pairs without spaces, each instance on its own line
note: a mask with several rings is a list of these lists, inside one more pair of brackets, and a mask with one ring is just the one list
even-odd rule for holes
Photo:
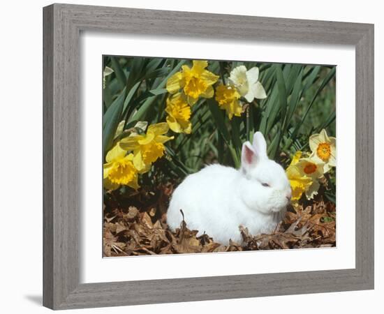
[[300,168],[297,167],[297,163],[299,162],[301,156],[302,152],[297,151],[295,156],[293,156],[290,165],[286,169],[286,174],[290,182],[290,188],[292,189],[291,202],[293,205],[297,204],[297,201],[300,200],[300,197],[302,197],[302,193],[307,191],[313,184],[313,179],[303,174],[300,171]]

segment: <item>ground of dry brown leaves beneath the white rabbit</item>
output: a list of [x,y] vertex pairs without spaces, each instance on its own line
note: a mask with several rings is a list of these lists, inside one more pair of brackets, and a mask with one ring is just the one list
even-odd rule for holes
[[166,209],[172,185],[145,188],[135,193],[107,193],[103,208],[103,255],[158,255],[209,253],[286,248],[320,248],[336,245],[336,207],[322,197],[287,211],[272,234],[254,237],[241,227],[243,243],[223,246],[209,234],[196,237],[183,221],[176,232],[169,230]]

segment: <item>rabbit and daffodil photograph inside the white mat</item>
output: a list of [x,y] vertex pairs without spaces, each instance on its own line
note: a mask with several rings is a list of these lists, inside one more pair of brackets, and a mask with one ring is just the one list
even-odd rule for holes
[[103,257],[337,246],[337,66],[102,58]]

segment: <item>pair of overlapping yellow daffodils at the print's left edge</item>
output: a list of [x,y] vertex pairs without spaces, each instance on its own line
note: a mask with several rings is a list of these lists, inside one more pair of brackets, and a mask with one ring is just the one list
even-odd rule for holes
[[117,142],[105,157],[105,188],[115,190],[124,185],[137,189],[138,174],[148,172],[152,163],[164,155],[164,143],[173,139],[164,135],[168,130],[168,124],[165,122],[152,124],[146,134],[131,133]]

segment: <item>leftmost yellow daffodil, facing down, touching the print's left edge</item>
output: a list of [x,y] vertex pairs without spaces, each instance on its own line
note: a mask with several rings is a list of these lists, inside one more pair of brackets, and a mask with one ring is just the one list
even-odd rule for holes
[[119,186],[130,186],[138,189],[138,170],[133,166],[133,154],[126,156],[119,143],[108,151],[103,165],[103,186],[115,190]]

